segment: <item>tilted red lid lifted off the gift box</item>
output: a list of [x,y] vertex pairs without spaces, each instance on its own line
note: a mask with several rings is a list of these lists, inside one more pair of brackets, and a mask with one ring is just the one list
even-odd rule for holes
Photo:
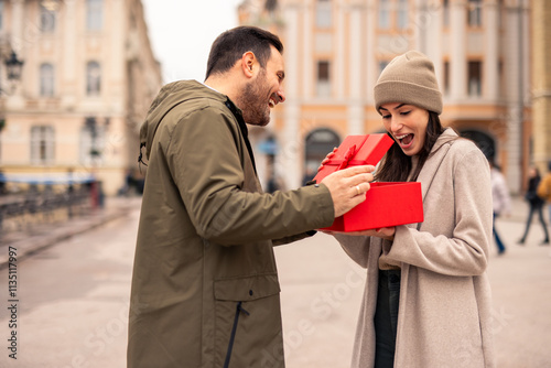
[[348,136],[314,180],[320,183],[331,173],[348,166],[376,165],[393,143],[395,140],[385,133]]

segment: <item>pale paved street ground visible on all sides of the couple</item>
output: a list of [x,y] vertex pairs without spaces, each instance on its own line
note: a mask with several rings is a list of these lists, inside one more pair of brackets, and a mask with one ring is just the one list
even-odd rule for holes
[[[127,315],[139,202],[126,216],[18,261],[17,300],[0,270],[0,367],[126,366]],[[551,247],[539,224],[525,247],[523,203],[498,229],[508,246],[493,249],[489,274],[499,368],[551,366]],[[8,252],[6,246],[1,252]],[[348,367],[364,273],[328,236],[276,250],[282,289],[288,368]],[[17,328],[9,307],[17,304]],[[17,361],[10,334],[17,332]]]

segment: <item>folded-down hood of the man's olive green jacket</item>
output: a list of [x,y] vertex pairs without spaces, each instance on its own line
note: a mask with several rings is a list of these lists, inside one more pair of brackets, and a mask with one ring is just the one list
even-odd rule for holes
[[145,147],[145,156],[149,160],[156,129],[169,111],[180,104],[203,98],[222,101],[223,104],[228,100],[227,96],[197,80],[177,80],[163,86],[151,104],[145,121],[140,127],[139,161],[141,161],[141,149],[143,147]]

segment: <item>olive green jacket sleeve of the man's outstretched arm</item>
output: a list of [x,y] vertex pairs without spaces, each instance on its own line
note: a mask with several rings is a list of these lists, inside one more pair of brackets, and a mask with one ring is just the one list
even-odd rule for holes
[[237,123],[225,111],[194,111],[180,118],[171,136],[166,162],[201,237],[229,246],[333,223],[333,201],[325,185],[274,194],[244,190],[248,152]]

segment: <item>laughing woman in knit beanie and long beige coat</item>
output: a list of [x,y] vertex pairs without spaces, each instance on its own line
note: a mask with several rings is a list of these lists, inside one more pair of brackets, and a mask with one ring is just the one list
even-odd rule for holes
[[442,95],[423,54],[396,57],[375,102],[396,141],[376,178],[421,182],[424,221],[334,234],[367,268],[353,367],[494,367],[488,162],[442,128]]

